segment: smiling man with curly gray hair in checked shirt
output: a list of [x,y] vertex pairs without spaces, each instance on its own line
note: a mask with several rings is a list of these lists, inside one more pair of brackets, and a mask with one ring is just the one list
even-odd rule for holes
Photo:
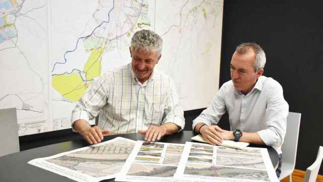
[[[173,80],[154,70],[163,41],[150,30],[137,31],[130,45],[131,63],[91,83],[72,112],[74,131],[89,144],[106,134],[138,132],[154,142],[184,128],[184,112]],[[98,125],[89,120],[99,114]]]

